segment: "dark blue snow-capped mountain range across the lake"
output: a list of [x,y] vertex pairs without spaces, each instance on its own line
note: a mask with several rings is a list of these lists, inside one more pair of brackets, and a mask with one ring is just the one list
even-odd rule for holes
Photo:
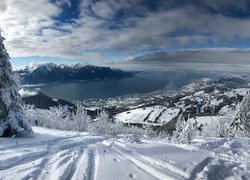
[[65,83],[74,81],[109,80],[132,77],[133,73],[109,67],[81,64],[57,65],[53,63],[25,67],[16,70],[21,84]]

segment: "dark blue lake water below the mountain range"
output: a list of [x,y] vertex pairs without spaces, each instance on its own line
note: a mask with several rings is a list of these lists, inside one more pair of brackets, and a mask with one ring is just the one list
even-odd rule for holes
[[132,93],[149,93],[163,88],[178,88],[207,77],[198,72],[144,72],[119,80],[76,82],[45,85],[40,90],[52,98],[84,100],[110,98]]

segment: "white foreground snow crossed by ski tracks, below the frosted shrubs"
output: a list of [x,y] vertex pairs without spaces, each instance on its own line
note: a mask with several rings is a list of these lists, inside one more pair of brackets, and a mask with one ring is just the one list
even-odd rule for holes
[[0,179],[225,179],[249,176],[250,141],[195,146],[34,128],[0,139]]

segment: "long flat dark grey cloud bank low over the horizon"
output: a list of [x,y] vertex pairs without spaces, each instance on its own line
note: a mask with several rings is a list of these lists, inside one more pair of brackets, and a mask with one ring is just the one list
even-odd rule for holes
[[250,63],[250,49],[206,48],[183,49],[179,51],[156,52],[131,59],[131,63],[212,63],[243,64]]

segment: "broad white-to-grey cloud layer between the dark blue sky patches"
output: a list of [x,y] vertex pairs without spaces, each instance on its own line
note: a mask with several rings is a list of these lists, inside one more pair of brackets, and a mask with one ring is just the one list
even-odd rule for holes
[[[112,54],[83,52],[119,50],[129,56],[137,50],[188,47],[190,43],[230,44],[250,37],[248,18],[203,13],[193,6],[146,11],[132,0],[97,3],[82,0],[79,17],[72,19],[72,23],[62,24],[53,17],[60,16],[65,4],[72,6],[70,0],[56,1],[55,4],[49,0],[2,0],[0,27],[4,30],[10,55],[100,60]],[[212,1],[210,6],[216,10],[222,5]],[[243,6],[238,8],[244,10]],[[144,16],[131,15],[114,21],[114,14],[121,9],[144,13]],[[112,23],[120,28],[110,29]]]

